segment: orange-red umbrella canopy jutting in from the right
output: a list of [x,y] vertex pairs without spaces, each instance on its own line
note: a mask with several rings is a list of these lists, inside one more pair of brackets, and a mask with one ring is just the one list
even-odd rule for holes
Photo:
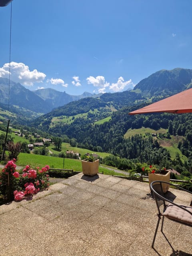
[[192,88],[150,104],[144,108],[132,111],[130,115],[146,113],[190,113],[192,112]]

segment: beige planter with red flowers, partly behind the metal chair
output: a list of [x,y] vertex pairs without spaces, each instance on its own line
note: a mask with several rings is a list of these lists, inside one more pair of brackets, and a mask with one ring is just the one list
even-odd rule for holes
[[[167,171],[166,168],[162,168],[162,170],[158,170],[157,168],[153,167],[152,165],[142,167],[142,173],[148,173],[149,178],[149,186],[152,181],[161,180],[170,182],[170,171]],[[162,184],[163,192],[166,193],[169,189],[169,184]]]

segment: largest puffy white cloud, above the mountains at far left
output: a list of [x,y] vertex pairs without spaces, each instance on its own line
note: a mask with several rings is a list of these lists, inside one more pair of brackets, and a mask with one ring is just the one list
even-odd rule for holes
[[[9,63],[5,63],[0,68],[0,77],[9,78]],[[32,86],[36,82],[42,82],[46,77],[46,74],[37,71],[29,70],[29,67],[24,63],[10,62],[10,79],[14,82],[19,82],[26,86]]]

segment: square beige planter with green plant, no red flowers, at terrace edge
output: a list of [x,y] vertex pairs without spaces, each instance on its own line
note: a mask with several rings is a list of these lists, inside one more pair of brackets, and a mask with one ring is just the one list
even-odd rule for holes
[[99,159],[94,158],[92,154],[81,161],[83,174],[94,176],[99,172]]

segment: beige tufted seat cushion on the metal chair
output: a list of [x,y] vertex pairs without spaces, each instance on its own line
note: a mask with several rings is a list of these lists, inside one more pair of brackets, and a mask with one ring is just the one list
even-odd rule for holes
[[185,205],[180,205],[180,206],[190,211],[191,214],[179,208],[176,205],[169,204],[166,210],[164,211],[163,215],[169,219],[176,220],[192,226],[192,207],[185,206]]

